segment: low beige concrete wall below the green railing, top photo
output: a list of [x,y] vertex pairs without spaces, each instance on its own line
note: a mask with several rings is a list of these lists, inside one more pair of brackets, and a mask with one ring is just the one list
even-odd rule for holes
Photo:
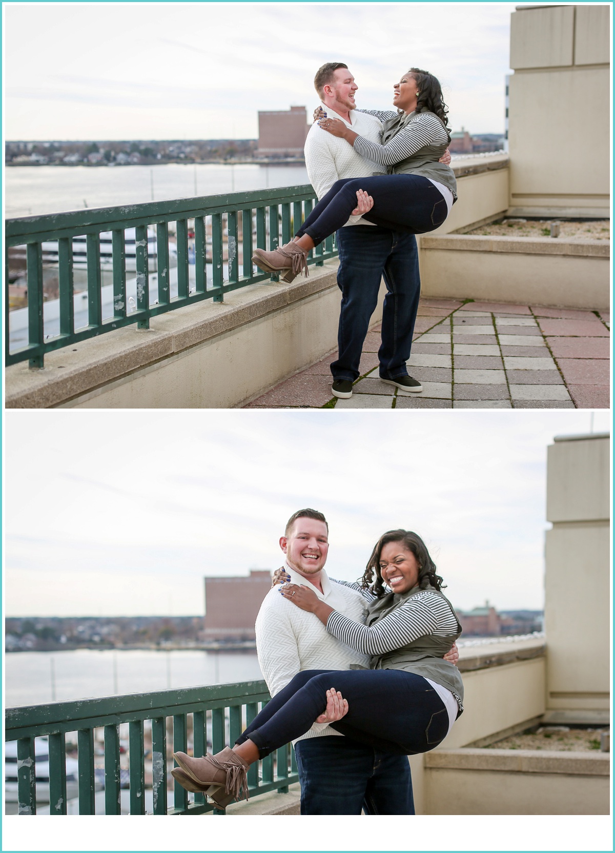
[[[6,371],[5,405],[9,409],[79,403],[111,408],[238,405],[333,349],[339,314],[336,272],[337,262],[328,262],[310,267],[309,278],[293,284],[243,287],[226,294],[223,303],[206,300],[154,317],[149,329],[133,326],[102,334],[50,352],[43,370],[31,370],[27,362],[13,365]],[[229,336],[235,347],[221,345]],[[258,349],[252,345],[255,336]],[[177,359],[182,357],[191,358],[180,367]],[[165,369],[171,364],[175,367]],[[151,373],[155,379],[146,380]],[[138,387],[137,376],[142,379]],[[129,382],[130,390],[119,390]]]

